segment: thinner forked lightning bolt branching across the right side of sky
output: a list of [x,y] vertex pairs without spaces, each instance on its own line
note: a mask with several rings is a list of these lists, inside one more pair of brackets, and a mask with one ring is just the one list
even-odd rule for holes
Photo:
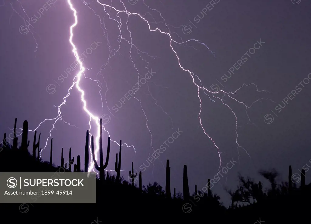
[[[149,28],[150,31],[152,31],[152,32],[159,31],[160,33],[165,34],[165,35],[167,35],[167,36],[169,37],[169,43],[170,43],[169,46],[170,46],[170,48],[172,49],[172,51],[174,52],[174,54],[175,54],[175,56],[176,56],[176,58],[177,58],[177,60],[178,60],[179,67],[180,67],[183,71],[188,72],[188,73],[190,74],[190,76],[192,77],[192,80],[193,80],[193,84],[197,86],[197,89],[198,89],[198,98],[199,98],[199,100],[200,100],[200,105],[199,105],[200,111],[199,111],[199,114],[198,114],[198,119],[199,119],[199,121],[200,121],[200,126],[201,126],[202,130],[204,131],[204,134],[207,135],[207,137],[213,142],[214,146],[217,148],[217,152],[218,152],[219,160],[220,160],[220,166],[219,166],[218,170],[220,171],[220,168],[222,168],[222,161],[221,161],[221,156],[220,156],[220,154],[221,154],[220,149],[219,149],[219,147],[216,145],[216,143],[214,142],[214,140],[206,133],[206,131],[205,131],[203,125],[202,125],[202,119],[201,119],[201,117],[200,117],[201,112],[202,112],[202,99],[201,99],[201,97],[200,97],[200,90],[203,90],[203,93],[204,93],[205,95],[207,95],[211,100],[212,100],[212,98],[214,98],[214,99],[219,99],[219,100],[220,100],[224,105],[226,105],[226,106],[231,110],[231,112],[234,114],[234,116],[235,116],[235,121],[236,121],[235,133],[236,133],[237,150],[238,150],[239,148],[244,149],[244,148],[243,148],[242,146],[240,146],[239,143],[238,143],[239,134],[237,133],[237,128],[238,128],[237,116],[236,116],[236,114],[234,113],[234,111],[230,108],[230,106],[224,102],[224,99],[223,99],[223,98],[224,98],[225,96],[227,96],[227,97],[229,97],[230,99],[235,100],[236,102],[238,102],[238,103],[240,103],[240,104],[243,104],[243,105],[246,107],[246,113],[247,113],[247,109],[250,108],[255,102],[258,102],[259,100],[270,100],[270,99],[263,99],[263,98],[262,98],[262,99],[258,99],[258,100],[256,100],[255,102],[253,102],[250,106],[247,106],[244,102],[241,102],[241,101],[239,101],[239,100],[236,100],[233,96],[230,96],[230,95],[233,95],[234,93],[236,93],[236,91],[227,93],[227,92],[225,92],[225,91],[223,91],[223,90],[219,90],[219,91],[216,91],[216,92],[212,92],[212,91],[208,90],[206,87],[204,87],[204,86],[202,85],[202,82],[201,82],[200,78],[199,78],[197,75],[195,75],[195,74],[194,74],[193,72],[191,72],[190,70],[185,69],[185,68],[181,65],[179,56],[178,56],[177,52],[174,50],[173,43],[175,43],[175,44],[185,44],[185,43],[188,43],[188,42],[191,42],[191,41],[196,41],[196,42],[198,42],[198,43],[204,45],[212,54],[214,54],[214,52],[212,52],[212,51],[207,47],[206,44],[200,42],[199,40],[191,39],[191,40],[182,41],[182,42],[175,41],[175,40],[172,38],[171,32],[170,32],[170,30],[169,30],[169,28],[168,28],[168,24],[166,24],[165,19],[162,17],[161,13],[160,13],[159,11],[157,11],[157,10],[155,10],[155,9],[152,9],[152,8],[150,8],[149,6],[147,6],[147,5],[145,4],[145,2],[144,2],[144,5],[145,5],[146,7],[148,7],[149,9],[151,9],[151,10],[153,10],[153,11],[157,11],[158,13],[160,13],[160,16],[161,16],[161,18],[163,19],[164,24],[166,25],[166,27],[167,27],[167,29],[168,29],[168,32],[167,32],[167,31],[162,31],[162,30],[161,30],[160,28],[158,28],[158,27],[156,27],[155,29],[151,29],[151,26],[150,26],[150,23],[151,23],[151,22],[147,21],[147,19],[146,19],[144,16],[142,16],[141,14],[139,14],[139,13],[128,12],[128,10],[126,9],[124,3],[123,3],[121,0],[119,0],[119,1],[123,4],[124,10],[118,10],[118,9],[116,9],[116,8],[113,7],[113,6],[110,6],[110,5],[105,4],[105,3],[101,3],[100,0],[97,0],[97,2],[98,2],[101,6],[104,7],[104,11],[105,11],[106,14],[108,14],[109,19],[112,19],[112,20],[114,20],[114,21],[117,21],[117,20],[115,20],[115,19],[113,19],[113,18],[110,17],[109,12],[110,12],[111,10],[114,10],[114,11],[117,13],[116,15],[117,15],[117,17],[118,17],[119,19],[120,19],[120,17],[118,16],[119,13],[126,13],[126,14],[128,15],[128,18],[129,18],[130,15],[131,15],[131,16],[137,16],[137,17],[140,17],[143,21],[145,21],[145,22],[147,23],[148,28]],[[106,11],[106,8],[109,8],[109,12]],[[128,24],[128,18],[127,18],[126,24]],[[121,21],[121,19],[120,19],[120,21]],[[118,21],[117,21],[117,22],[118,22]],[[118,26],[119,29],[118,29],[118,30],[119,30],[120,35],[121,35],[120,23],[118,22],[118,24],[119,24],[119,26]],[[158,23],[156,23],[156,24],[158,24]],[[128,30],[128,26],[127,26],[127,30]],[[128,32],[131,33],[129,30],[128,30]],[[132,49],[132,38],[131,38],[130,44],[131,44],[131,49]],[[130,54],[130,55],[131,55],[131,54]],[[215,56],[215,55],[214,55],[214,56]],[[131,58],[131,61],[132,61],[132,58]],[[134,64],[134,66],[135,66],[135,64]],[[135,69],[137,70],[136,67],[135,67]],[[137,70],[137,72],[138,72],[138,70]],[[140,74],[139,74],[139,72],[138,72],[138,78],[139,78],[139,77],[140,77]],[[200,85],[198,85],[198,84],[196,83],[194,77],[197,77],[197,79],[198,79],[199,82],[200,82]],[[253,83],[252,83],[252,84],[253,84]],[[251,85],[251,84],[249,84],[249,85]],[[255,85],[255,84],[253,84],[253,85]],[[247,86],[247,85],[243,84],[239,89],[241,89],[243,86]],[[255,86],[256,86],[256,85],[255,85]],[[256,88],[257,88],[257,86],[256,86]],[[239,89],[238,89],[238,90],[239,90]],[[238,90],[237,90],[237,91],[238,91]],[[137,90],[137,91],[138,91],[138,90]],[[136,91],[136,92],[137,92],[137,91]],[[257,88],[257,91],[258,91],[258,88]],[[136,93],[136,92],[135,92],[135,93]],[[216,96],[216,94],[218,94],[218,93],[222,93],[222,94],[224,94],[224,95],[220,98],[219,96]],[[137,98],[136,98],[136,99],[137,99]],[[137,99],[137,100],[138,100],[138,99]],[[139,101],[139,100],[138,100],[138,101]],[[214,100],[212,100],[212,101],[214,101]],[[272,100],[271,100],[271,101],[272,101]],[[139,101],[139,102],[140,102],[140,101]],[[141,102],[140,102],[140,104],[141,104]],[[141,107],[142,107],[142,104],[141,104]],[[142,110],[143,110],[143,108],[142,108]],[[144,114],[145,114],[145,113],[144,113]],[[145,116],[146,116],[146,114],[145,114]],[[248,116],[248,114],[247,114],[247,116]],[[249,119],[249,116],[248,116],[248,119]],[[249,119],[249,121],[250,121],[250,119]],[[148,126],[147,126],[147,128],[148,128]],[[149,128],[148,128],[148,130],[150,131]],[[152,143],[152,135],[151,135],[151,143]],[[244,149],[244,151],[248,154],[248,152],[247,152],[246,149]],[[238,152],[239,152],[239,150],[238,150]],[[250,155],[248,154],[248,156],[250,156]],[[217,175],[218,175],[218,174],[217,174]]]

